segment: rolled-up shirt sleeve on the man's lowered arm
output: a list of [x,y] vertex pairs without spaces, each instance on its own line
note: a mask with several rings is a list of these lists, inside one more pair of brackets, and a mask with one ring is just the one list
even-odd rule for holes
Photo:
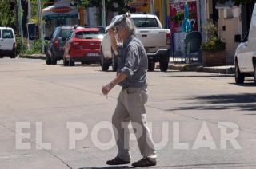
[[126,53],[126,61],[125,66],[121,69],[122,73],[125,73],[128,77],[134,75],[134,73],[138,70],[139,66],[139,54],[138,49],[136,48],[128,48]]

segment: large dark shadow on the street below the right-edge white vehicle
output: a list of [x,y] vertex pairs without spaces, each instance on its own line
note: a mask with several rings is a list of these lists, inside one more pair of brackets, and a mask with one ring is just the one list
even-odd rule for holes
[[229,94],[229,95],[210,95],[192,97],[186,100],[195,100],[194,106],[184,106],[168,109],[166,111],[177,110],[224,110],[238,109],[245,111],[256,110],[256,94]]

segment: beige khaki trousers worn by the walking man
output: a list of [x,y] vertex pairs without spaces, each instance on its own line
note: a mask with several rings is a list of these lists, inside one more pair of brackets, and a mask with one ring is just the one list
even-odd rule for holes
[[148,93],[144,88],[122,88],[118,96],[118,104],[112,116],[114,136],[118,146],[118,157],[130,161],[130,132],[131,122],[138,147],[143,158],[155,161],[157,158],[150,130],[146,123]]

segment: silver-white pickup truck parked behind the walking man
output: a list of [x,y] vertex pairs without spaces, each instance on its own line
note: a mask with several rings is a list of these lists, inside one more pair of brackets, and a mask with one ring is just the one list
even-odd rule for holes
[[[112,22],[121,15],[115,16]],[[142,41],[149,59],[149,71],[154,71],[155,62],[160,63],[161,71],[168,69],[170,58],[170,29],[162,29],[161,22],[158,17],[152,14],[131,14],[136,26],[136,36]],[[117,69],[117,61],[115,61],[114,53],[111,49],[110,36],[106,36],[102,40],[102,70],[106,71],[112,65],[114,71]]]

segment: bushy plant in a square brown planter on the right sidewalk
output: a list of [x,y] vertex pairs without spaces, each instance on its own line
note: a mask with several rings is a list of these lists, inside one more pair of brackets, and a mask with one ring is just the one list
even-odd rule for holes
[[213,24],[206,27],[208,41],[203,42],[202,49],[202,65],[217,66],[226,65],[226,43],[218,37],[218,28]]

